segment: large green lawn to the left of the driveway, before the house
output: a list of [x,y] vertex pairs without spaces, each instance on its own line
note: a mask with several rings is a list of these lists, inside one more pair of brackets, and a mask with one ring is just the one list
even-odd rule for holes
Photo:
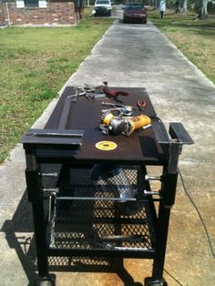
[[112,24],[0,29],[0,163]]

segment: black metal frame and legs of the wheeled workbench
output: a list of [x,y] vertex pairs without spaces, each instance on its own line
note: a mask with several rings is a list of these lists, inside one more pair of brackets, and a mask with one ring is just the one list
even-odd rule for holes
[[[132,88],[131,88],[132,91]],[[71,92],[71,90],[69,90]],[[68,92],[67,92],[68,94]],[[66,110],[67,109],[67,110]],[[165,153],[165,158],[162,159],[125,159],[114,158],[115,164],[128,164],[134,166],[141,166],[145,170],[146,166],[155,165],[162,166],[162,175],[160,180],[159,191],[159,211],[157,213],[154,206],[154,196],[158,195],[150,189],[150,182],[145,179],[145,183],[148,186],[148,205],[150,208],[151,218],[154,224],[156,241],[153,250],[116,250],[116,249],[53,249],[48,246],[47,243],[47,229],[46,229],[46,209],[44,199],[56,194],[56,189],[45,189],[42,184],[43,176],[49,176],[50,174],[44,174],[41,170],[41,166],[46,164],[68,164],[72,161],[72,164],[77,168],[87,167],[90,168],[94,163],[106,163],[106,158],[76,158],[78,153],[77,146],[80,145],[81,138],[83,136],[82,131],[78,130],[66,130],[67,116],[69,114],[69,107],[61,107],[61,112],[58,112],[58,133],[62,135],[60,140],[62,142],[57,145],[53,143],[53,138],[48,141],[49,137],[44,136],[54,129],[50,128],[50,123],[46,124],[44,130],[30,130],[23,138],[23,144],[26,151],[26,186],[28,193],[28,200],[32,204],[33,217],[35,224],[35,236],[36,236],[36,255],[37,255],[37,269],[38,278],[37,284],[42,284],[47,281],[50,285],[55,285],[55,277],[49,274],[48,271],[48,257],[49,256],[71,256],[71,257],[108,257],[108,258],[145,258],[153,259],[153,268],[151,277],[145,279],[145,286],[149,285],[168,285],[167,281],[163,279],[164,261],[166,254],[166,246],[169,232],[169,216],[170,209],[174,204],[177,179],[178,179],[178,162],[179,154],[183,144],[192,144],[193,141],[189,137],[189,134],[183,128],[180,123],[170,123],[169,135],[163,126],[160,126],[160,121],[156,120],[153,124],[155,140],[159,147],[162,148]],[[56,110],[57,111],[57,110]],[[56,111],[54,113],[56,114]],[[161,128],[160,128],[161,127]],[[56,127],[55,127],[56,128]],[[51,130],[51,131],[50,131]],[[63,131],[62,131],[63,130]],[[37,132],[37,133],[36,133]],[[42,137],[40,137],[42,132]],[[54,132],[54,131],[53,131]],[[56,132],[56,129],[55,129]],[[54,133],[55,133],[54,132]],[[39,134],[37,137],[32,137],[29,134]],[[66,141],[65,141],[66,133]],[[67,138],[70,136],[70,142],[67,143]],[[72,139],[71,139],[72,138]],[[54,138],[55,141],[55,138]],[[57,141],[57,139],[56,139]],[[82,147],[81,147],[82,148]],[[122,265],[121,263],[121,265]],[[119,263],[120,264],[120,263]],[[129,285],[132,285],[130,282]]]

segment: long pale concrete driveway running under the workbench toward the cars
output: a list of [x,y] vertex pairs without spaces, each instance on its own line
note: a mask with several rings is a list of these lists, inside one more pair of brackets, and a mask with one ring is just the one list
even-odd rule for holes
[[[125,25],[118,19],[70,77],[66,86],[100,84],[146,87],[168,127],[182,122],[195,141],[184,147],[179,169],[215,243],[215,86],[150,23]],[[36,122],[43,127],[54,100]],[[32,285],[35,246],[31,209],[26,199],[25,155],[21,145],[0,166],[0,285]],[[151,274],[151,260],[125,260],[135,281]],[[170,286],[213,286],[215,264],[196,210],[179,179],[177,200],[171,212],[164,277]],[[116,273],[56,272],[56,285],[123,285]],[[141,284],[139,284],[141,285]]]

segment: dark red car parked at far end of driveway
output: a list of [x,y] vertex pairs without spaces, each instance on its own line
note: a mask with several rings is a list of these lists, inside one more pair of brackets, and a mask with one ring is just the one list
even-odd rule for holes
[[129,3],[123,13],[124,23],[147,24],[147,11],[141,3]]

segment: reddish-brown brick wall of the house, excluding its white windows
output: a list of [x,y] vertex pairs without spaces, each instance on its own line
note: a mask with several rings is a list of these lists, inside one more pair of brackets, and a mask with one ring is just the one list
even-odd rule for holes
[[17,8],[15,3],[0,6],[2,25],[75,25],[77,14],[73,2],[47,2],[46,8]]

